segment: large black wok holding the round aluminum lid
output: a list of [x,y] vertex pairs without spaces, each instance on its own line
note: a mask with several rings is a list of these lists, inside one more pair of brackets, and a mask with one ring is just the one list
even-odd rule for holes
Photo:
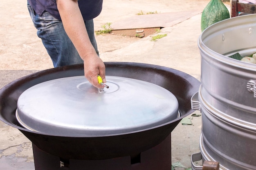
[[181,116],[161,126],[145,130],[100,137],[52,136],[34,132],[20,126],[16,120],[17,100],[27,88],[51,79],[83,75],[83,64],[40,71],[17,79],[0,90],[0,119],[18,128],[39,149],[63,159],[109,159],[137,155],[161,143],[183,117],[194,110],[190,99],[198,92],[200,82],[181,71],[163,66],[106,62],[106,75],[140,79],[171,91],[179,102]]

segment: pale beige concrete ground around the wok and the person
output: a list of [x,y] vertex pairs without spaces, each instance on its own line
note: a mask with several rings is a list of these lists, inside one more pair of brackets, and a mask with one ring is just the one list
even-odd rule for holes
[[[52,68],[36,35],[26,1],[0,0],[0,88],[30,73]],[[210,0],[104,0],[102,13],[95,18],[95,30],[107,22],[118,22],[140,11],[159,13],[201,11]],[[230,3],[225,2],[230,8]],[[98,35],[100,57],[104,62],[140,62],[167,66],[200,80],[200,53],[197,41],[201,33],[201,13],[161,29],[166,37],[151,41],[152,36],[135,38],[124,35]],[[157,35],[155,34],[155,35]],[[199,111],[195,111],[200,114]],[[190,116],[189,116],[190,117]],[[199,152],[201,117],[193,125],[181,123],[171,133],[172,163],[191,167],[191,154]],[[0,170],[34,170],[31,142],[17,129],[0,122]],[[184,170],[185,168],[175,168]]]

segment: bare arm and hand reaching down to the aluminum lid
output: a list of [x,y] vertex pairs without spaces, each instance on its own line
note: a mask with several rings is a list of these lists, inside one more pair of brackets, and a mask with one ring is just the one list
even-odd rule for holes
[[84,61],[85,77],[95,87],[98,75],[106,82],[105,65],[92,46],[77,0],[56,0],[64,29]]

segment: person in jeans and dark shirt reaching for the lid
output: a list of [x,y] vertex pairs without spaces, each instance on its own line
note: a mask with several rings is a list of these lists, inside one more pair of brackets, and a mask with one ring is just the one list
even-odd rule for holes
[[102,88],[106,83],[105,64],[99,57],[93,18],[102,10],[103,0],[27,0],[37,35],[41,38],[54,67],[84,65],[85,77]]

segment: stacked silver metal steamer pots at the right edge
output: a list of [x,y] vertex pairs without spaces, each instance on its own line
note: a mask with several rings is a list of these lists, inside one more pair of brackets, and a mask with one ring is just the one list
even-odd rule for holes
[[256,15],[223,20],[198,39],[201,86],[191,106],[202,113],[201,153],[222,170],[256,170],[256,65],[228,56],[256,53]]

